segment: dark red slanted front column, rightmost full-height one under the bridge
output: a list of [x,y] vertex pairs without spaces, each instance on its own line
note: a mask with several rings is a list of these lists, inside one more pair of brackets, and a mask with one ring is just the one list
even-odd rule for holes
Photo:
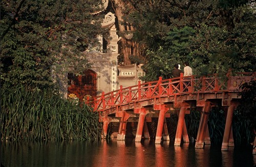
[[228,107],[228,110],[227,110],[226,124],[225,124],[225,130],[224,130],[221,151],[228,150],[229,137],[230,137],[230,131],[231,131],[232,119],[233,119],[233,112],[234,112],[234,104],[232,103]]

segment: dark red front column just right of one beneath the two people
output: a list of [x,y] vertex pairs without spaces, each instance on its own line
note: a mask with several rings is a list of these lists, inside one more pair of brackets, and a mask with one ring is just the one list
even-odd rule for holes
[[211,108],[210,101],[205,101],[201,118],[200,118],[199,127],[198,127],[197,141],[196,141],[195,148],[204,148],[204,135],[205,135],[210,108]]

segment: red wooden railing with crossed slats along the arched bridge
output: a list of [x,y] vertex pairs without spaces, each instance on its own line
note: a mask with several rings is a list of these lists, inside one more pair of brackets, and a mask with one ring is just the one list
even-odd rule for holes
[[138,85],[123,88],[119,90],[97,96],[94,99],[88,99],[87,104],[94,110],[103,111],[116,105],[124,105],[132,101],[147,100],[163,96],[172,96],[185,93],[207,93],[207,92],[228,92],[241,91],[239,86],[244,82],[255,79],[255,73],[238,73],[237,76],[229,74],[218,76],[212,74],[202,77],[183,76],[145,82]]

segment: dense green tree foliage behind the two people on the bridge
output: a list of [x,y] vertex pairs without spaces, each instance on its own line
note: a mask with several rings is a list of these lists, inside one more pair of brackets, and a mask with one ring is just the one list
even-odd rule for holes
[[146,76],[170,77],[174,64],[194,74],[255,70],[255,4],[247,1],[132,1],[125,16],[144,52]]

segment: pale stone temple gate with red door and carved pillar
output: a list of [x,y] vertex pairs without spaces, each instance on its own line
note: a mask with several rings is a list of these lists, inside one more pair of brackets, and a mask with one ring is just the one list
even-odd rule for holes
[[[104,1],[104,9],[109,1]],[[96,13],[97,14],[97,13]],[[67,74],[68,82],[62,82],[62,94],[70,100],[86,101],[102,94],[120,89],[120,86],[129,87],[137,85],[139,77],[144,75],[140,66],[118,65],[118,37],[115,26],[115,15],[111,12],[105,15],[102,27],[109,29],[110,40],[98,36],[101,51],[84,51],[87,60],[92,63],[89,70],[83,75]],[[105,48],[103,48],[105,47]],[[103,50],[108,50],[103,52]]]

